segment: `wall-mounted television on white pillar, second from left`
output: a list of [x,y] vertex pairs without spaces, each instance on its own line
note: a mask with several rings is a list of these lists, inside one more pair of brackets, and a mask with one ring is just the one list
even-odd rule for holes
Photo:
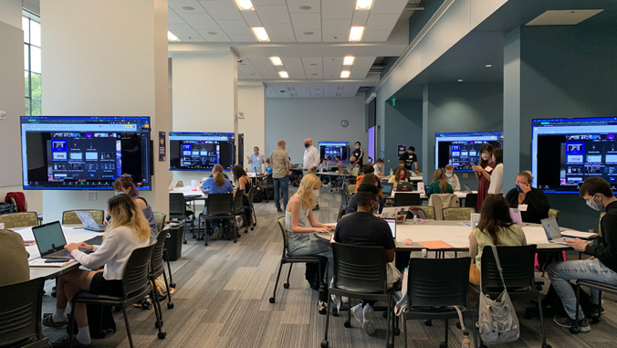
[[225,171],[235,165],[235,133],[169,133],[170,170],[211,171],[217,163]]

